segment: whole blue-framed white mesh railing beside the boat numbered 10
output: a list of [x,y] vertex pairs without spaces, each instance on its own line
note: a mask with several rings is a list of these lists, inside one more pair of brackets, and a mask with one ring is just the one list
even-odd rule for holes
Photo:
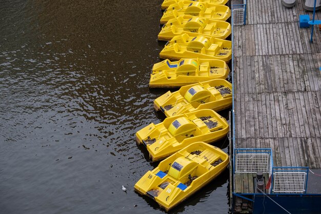
[[271,149],[238,148],[234,149],[234,173],[270,173],[273,166]]

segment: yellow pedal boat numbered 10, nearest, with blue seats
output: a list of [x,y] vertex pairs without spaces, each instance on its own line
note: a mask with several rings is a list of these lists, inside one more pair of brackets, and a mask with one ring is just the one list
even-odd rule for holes
[[219,148],[193,143],[144,174],[134,188],[168,211],[215,179],[229,161],[228,154]]

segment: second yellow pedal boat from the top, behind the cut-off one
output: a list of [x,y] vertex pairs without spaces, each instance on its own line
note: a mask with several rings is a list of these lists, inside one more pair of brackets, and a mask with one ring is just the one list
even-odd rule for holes
[[215,5],[194,1],[177,2],[170,5],[160,18],[160,24],[165,24],[172,18],[182,15],[214,18],[214,20],[226,21],[231,16],[231,10],[225,5]]

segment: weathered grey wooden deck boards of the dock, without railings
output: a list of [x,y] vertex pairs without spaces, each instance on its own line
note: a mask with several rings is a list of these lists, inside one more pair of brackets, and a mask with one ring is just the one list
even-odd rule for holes
[[[248,0],[247,25],[234,26],[235,146],[271,148],[274,166],[321,169],[321,31],[310,43],[299,28],[300,14],[312,17],[303,5]],[[235,176],[237,192],[253,191],[248,177]]]

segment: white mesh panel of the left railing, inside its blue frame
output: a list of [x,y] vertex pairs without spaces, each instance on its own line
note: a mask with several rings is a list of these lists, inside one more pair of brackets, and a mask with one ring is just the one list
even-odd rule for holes
[[270,153],[244,152],[236,153],[235,172],[255,173],[270,171]]

